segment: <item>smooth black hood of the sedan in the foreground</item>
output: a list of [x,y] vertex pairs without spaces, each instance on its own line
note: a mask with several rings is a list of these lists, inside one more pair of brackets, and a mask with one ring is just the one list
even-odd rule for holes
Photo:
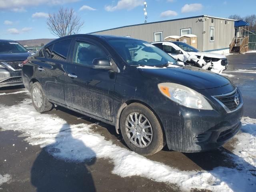
[[230,84],[230,80],[207,70],[193,67],[139,67],[142,76],[160,82],[172,82],[187,86],[194,90],[211,89]]

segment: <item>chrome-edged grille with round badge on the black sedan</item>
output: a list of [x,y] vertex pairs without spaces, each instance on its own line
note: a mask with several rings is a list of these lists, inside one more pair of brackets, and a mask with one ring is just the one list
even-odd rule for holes
[[237,89],[234,91],[219,96],[213,96],[226,110],[226,112],[233,112],[243,105],[242,97]]

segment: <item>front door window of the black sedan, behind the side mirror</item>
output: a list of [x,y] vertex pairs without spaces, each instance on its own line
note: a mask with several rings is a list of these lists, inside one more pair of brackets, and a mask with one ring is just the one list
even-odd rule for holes
[[92,61],[95,58],[108,58],[108,54],[106,54],[106,52],[104,52],[99,46],[86,42],[76,43],[75,54],[73,58],[74,63],[92,66]]

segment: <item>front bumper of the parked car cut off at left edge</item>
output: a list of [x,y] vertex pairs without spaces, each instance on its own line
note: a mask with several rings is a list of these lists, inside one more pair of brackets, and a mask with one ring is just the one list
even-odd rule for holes
[[0,69],[0,87],[22,85],[21,70]]

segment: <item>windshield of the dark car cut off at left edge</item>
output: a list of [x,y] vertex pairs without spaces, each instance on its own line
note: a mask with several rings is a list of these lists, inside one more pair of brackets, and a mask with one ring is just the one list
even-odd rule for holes
[[24,53],[26,48],[17,42],[0,42],[0,53]]

